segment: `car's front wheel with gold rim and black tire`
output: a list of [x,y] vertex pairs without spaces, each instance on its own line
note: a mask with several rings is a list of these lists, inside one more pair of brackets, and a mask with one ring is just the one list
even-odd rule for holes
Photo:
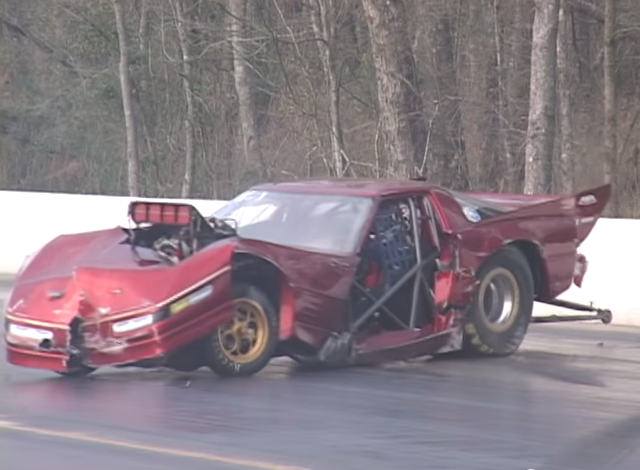
[[260,372],[278,345],[278,313],[269,298],[248,284],[237,284],[233,290],[235,315],[205,346],[207,366],[223,377]]

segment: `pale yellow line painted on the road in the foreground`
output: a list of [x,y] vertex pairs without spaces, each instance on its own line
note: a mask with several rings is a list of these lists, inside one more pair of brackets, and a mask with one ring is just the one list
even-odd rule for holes
[[0,429],[6,429],[11,431],[19,431],[28,434],[37,434],[40,436],[54,437],[58,439],[68,439],[72,441],[90,442],[93,444],[101,444],[112,447],[120,447],[123,449],[132,449],[138,451],[152,452],[155,454],[170,455],[172,457],[183,457],[197,460],[206,460],[209,462],[225,463],[229,465],[236,465],[239,467],[262,469],[262,470],[311,470],[305,467],[293,467],[290,465],[279,465],[276,463],[265,462],[261,460],[243,459],[238,457],[227,457],[224,455],[218,455],[208,452],[196,452],[183,449],[172,449],[158,447],[148,444],[141,444],[131,441],[123,441],[119,439],[110,439],[107,437],[90,436],[78,432],[68,431],[56,431],[53,429],[40,428],[35,426],[28,426],[12,421],[4,421],[0,419]]

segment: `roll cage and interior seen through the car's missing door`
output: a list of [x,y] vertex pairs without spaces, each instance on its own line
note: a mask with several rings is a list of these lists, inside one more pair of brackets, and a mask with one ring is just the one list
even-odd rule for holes
[[349,332],[357,334],[383,313],[400,329],[432,322],[440,240],[427,195],[381,198],[368,227],[349,303]]

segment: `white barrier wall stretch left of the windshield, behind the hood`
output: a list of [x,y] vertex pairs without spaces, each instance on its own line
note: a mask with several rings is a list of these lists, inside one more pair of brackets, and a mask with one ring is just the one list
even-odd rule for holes
[[226,203],[200,199],[0,191],[0,275],[16,273],[25,256],[60,234],[128,226],[127,208],[133,199],[188,202],[205,216]]

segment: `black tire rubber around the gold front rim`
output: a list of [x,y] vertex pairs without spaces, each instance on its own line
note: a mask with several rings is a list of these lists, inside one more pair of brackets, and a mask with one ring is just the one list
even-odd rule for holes
[[205,347],[207,365],[217,375],[223,377],[253,375],[262,370],[271,360],[278,345],[279,318],[276,309],[269,298],[257,287],[250,284],[236,284],[233,287],[234,299],[249,299],[258,303],[267,315],[269,331],[267,332],[267,346],[264,352],[252,362],[239,364],[229,359],[222,351],[218,329],[210,336],[210,341]]

